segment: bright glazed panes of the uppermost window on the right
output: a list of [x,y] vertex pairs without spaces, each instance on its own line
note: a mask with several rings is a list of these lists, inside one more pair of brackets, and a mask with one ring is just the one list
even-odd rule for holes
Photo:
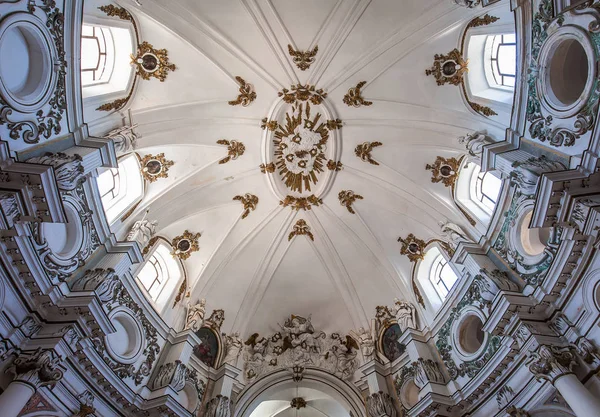
[[515,34],[489,35],[485,40],[485,75],[492,88],[514,89],[517,72]]

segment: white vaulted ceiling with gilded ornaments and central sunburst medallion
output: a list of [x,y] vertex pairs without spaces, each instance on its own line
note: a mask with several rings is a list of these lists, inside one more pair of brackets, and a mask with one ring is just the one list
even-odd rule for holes
[[502,138],[507,120],[472,112],[425,69],[481,11],[448,0],[141,3],[143,40],[177,69],[139,83],[136,151],[174,165],[114,229],[124,237],[149,209],[160,236],[201,233],[184,261],[191,301],[223,308],[223,331],[266,333],[291,313],[326,331],[366,327],[377,305],[414,302],[399,236],[439,238],[445,220],[480,236],[425,165],[464,153],[465,133]]

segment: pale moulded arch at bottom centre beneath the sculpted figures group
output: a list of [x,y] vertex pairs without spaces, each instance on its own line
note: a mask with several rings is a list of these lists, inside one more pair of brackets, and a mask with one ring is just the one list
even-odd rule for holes
[[326,394],[339,404],[340,409],[343,408],[346,416],[352,413],[356,417],[366,417],[364,400],[354,386],[315,368],[305,369],[302,381],[299,383],[294,382],[291,372],[285,369],[256,380],[240,393],[233,417],[250,417],[263,401],[274,398],[274,395],[285,389],[296,389],[296,387],[313,389]]

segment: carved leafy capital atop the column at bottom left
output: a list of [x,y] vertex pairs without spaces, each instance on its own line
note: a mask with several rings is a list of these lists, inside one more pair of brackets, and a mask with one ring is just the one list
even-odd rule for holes
[[35,390],[43,386],[53,387],[66,371],[61,361],[54,349],[38,348],[35,352],[21,354],[8,371],[16,374],[15,381],[30,385]]

